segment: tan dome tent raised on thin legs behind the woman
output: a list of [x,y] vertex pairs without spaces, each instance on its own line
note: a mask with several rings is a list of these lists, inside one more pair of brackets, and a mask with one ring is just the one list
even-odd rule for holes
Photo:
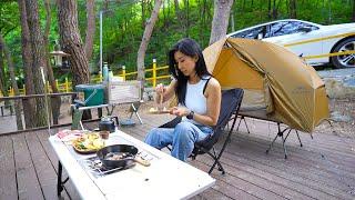
[[310,133],[328,118],[324,82],[311,66],[285,48],[225,38],[203,54],[222,88],[245,90],[242,109],[260,109],[266,118]]

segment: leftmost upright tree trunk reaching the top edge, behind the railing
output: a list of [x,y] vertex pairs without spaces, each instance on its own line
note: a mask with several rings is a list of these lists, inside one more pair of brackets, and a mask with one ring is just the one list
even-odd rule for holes
[[[31,58],[31,43],[30,43],[30,31],[29,26],[27,23],[27,13],[26,13],[26,3],[24,0],[18,0],[19,10],[20,10],[20,20],[21,20],[21,40],[22,40],[22,63],[23,63],[23,72],[24,72],[24,87],[26,94],[33,94],[34,87],[32,83],[33,74],[32,74],[32,58]],[[26,128],[34,128],[36,121],[34,112],[36,112],[36,101],[34,99],[23,99],[23,116]]]

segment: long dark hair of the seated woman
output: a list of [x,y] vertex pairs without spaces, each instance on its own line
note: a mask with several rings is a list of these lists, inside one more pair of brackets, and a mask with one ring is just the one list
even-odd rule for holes
[[199,60],[195,66],[196,74],[200,79],[203,79],[204,76],[211,76],[207,71],[206,63],[204,62],[204,58],[202,54],[202,50],[196,41],[184,38],[180,40],[170,51],[169,51],[169,71],[176,79],[178,84],[175,88],[175,94],[178,97],[178,102],[185,104],[186,97],[186,86],[189,77],[184,76],[178,68],[178,63],[175,61],[174,54],[176,51],[182,52],[189,57],[199,57]]

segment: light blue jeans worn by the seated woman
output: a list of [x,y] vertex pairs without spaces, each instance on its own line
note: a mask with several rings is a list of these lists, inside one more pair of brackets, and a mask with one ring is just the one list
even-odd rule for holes
[[182,121],[173,129],[152,129],[145,137],[144,142],[156,149],[163,149],[171,144],[171,156],[186,161],[192,153],[194,143],[205,139],[212,132],[213,129],[211,127]]

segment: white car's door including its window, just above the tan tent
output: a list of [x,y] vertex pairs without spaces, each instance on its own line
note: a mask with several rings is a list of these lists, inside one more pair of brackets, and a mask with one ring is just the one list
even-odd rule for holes
[[[268,26],[268,37],[263,40],[284,46],[298,57],[322,54],[322,41],[312,41],[323,37],[318,27],[303,21],[278,21]],[[308,31],[306,32],[304,28],[308,28]],[[307,62],[318,61],[307,59]]]

